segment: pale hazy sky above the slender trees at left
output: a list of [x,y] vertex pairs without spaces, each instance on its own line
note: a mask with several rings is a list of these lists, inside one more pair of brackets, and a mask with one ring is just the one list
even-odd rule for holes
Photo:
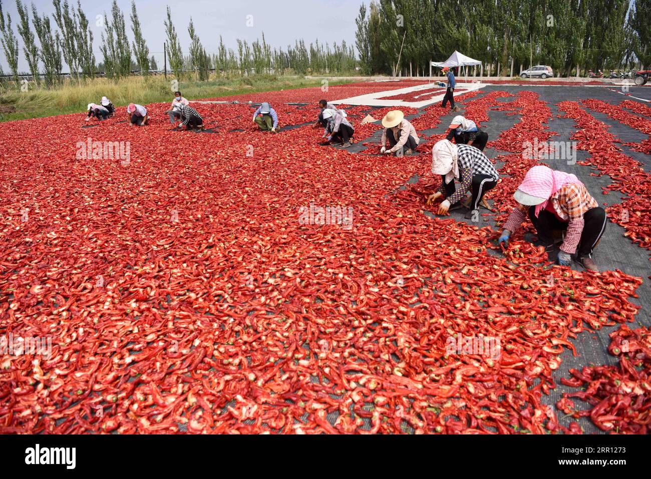
[[[76,0],[68,1],[76,5]],[[318,38],[320,42],[327,41],[330,45],[335,41],[340,44],[341,40],[354,45],[355,17],[362,2],[363,0],[136,0],[135,4],[147,46],[156,56],[159,68],[162,68],[165,5],[172,9],[173,23],[185,53],[190,42],[187,34],[190,17],[206,51],[214,53],[219,47],[220,34],[227,48],[236,49],[236,38],[246,39],[250,44],[256,38],[261,38],[263,31],[272,47],[286,48],[299,38],[303,38],[307,44]],[[48,13],[51,16],[54,11],[51,0],[35,0],[33,3],[40,14]],[[368,1],[365,3],[368,5]],[[131,0],[118,0],[118,5],[124,12],[127,34],[132,38],[129,18]],[[18,36],[15,0],[3,0],[2,6],[11,15],[12,27]],[[95,20],[104,11],[109,13],[110,20],[111,1],[81,0],[81,7],[93,29],[95,57],[100,62],[100,34],[103,27],[97,27]],[[253,27],[247,27],[247,15],[253,16]],[[51,22],[55,25],[53,18]],[[22,47],[20,36],[18,40]],[[24,56],[21,48],[18,65],[21,72],[27,71]],[[0,59],[7,74],[7,61],[1,48]]]

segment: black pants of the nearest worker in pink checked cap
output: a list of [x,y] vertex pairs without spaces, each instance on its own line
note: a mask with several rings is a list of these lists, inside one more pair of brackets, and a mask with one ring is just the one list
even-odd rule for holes
[[[535,215],[536,207],[529,208],[529,218],[536,228],[538,239],[546,245],[553,243],[553,230],[567,230],[568,224],[566,221],[561,221],[554,215],[554,213],[542,210],[538,217]],[[590,256],[592,250],[602,238],[603,232],[606,228],[606,212],[603,208],[596,207],[590,208],[587,212],[583,213],[583,232],[581,232],[581,241],[579,241],[579,248],[577,249],[577,256],[585,258]]]

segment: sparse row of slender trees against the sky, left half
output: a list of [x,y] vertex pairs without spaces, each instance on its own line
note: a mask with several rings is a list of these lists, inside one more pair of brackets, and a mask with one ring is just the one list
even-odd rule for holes
[[[118,7],[116,0],[113,0],[110,15],[104,13],[104,17],[99,19],[104,25],[100,45],[104,58],[100,64],[96,64],[92,49],[92,31],[79,0],[76,6],[69,4],[68,0],[53,0],[53,5],[53,23],[47,15],[40,16],[35,5],[31,5],[31,28],[27,5],[23,5],[21,0],[16,0],[20,16],[20,22],[16,25],[18,36],[22,40],[22,51],[29,72],[37,84],[41,83],[41,76],[48,87],[59,83],[64,63],[69,66],[70,75],[77,81],[93,78],[98,72],[119,78],[132,74],[134,70],[142,74],[156,70],[156,60],[154,55],[150,56],[143,37],[135,1],[132,0],[130,12],[132,42],[128,38],[124,12]],[[237,50],[227,49],[220,36],[217,53],[208,53],[195,31],[191,18],[187,27],[190,44],[186,55],[169,7],[163,26],[167,36],[166,55],[169,68],[178,78],[190,71],[197,79],[206,80],[211,70],[221,70],[229,75],[284,74],[288,70],[298,74],[350,73],[355,70],[357,64],[353,47],[347,46],[345,41],[340,45],[333,44],[332,48],[327,43],[320,44],[318,40],[309,47],[305,46],[303,40],[297,40],[295,46],[288,46],[286,49],[271,48],[264,38],[264,33],[262,40],[255,40],[251,45],[246,40],[238,39]],[[14,33],[10,15],[3,14],[0,0],[0,45],[16,83],[20,56],[18,36]],[[36,37],[40,46],[37,45]]]

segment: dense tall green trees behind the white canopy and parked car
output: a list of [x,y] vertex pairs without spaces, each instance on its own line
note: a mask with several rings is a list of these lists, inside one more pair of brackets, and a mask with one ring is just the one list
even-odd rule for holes
[[648,0],[372,0],[356,24],[365,74],[428,72],[455,49],[486,75],[530,63],[562,76],[651,64]]

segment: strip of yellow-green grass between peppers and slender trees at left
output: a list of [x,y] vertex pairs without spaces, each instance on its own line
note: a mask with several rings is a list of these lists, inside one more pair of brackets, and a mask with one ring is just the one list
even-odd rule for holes
[[[96,78],[81,85],[76,81],[55,89],[30,89],[21,92],[15,85],[0,86],[0,122],[85,113],[88,103],[99,103],[107,96],[116,107],[129,103],[171,102],[174,98],[173,77],[127,77],[117,81]],[[331,81],[331,85],[350,83]],[[251,77],[215,78],[208,81],[186,80],[178,83],[178,90],[188,100],[232,96],[243,93],[273,90],[290,90],[305,87],[320,87],[320,79],[306,79],[302,76],[252,75]]]

